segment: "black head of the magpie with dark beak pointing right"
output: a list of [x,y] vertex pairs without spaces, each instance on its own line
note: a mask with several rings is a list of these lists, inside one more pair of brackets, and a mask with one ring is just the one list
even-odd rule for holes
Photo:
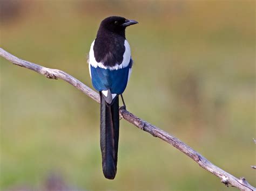
[[124,34],[125,28],[130,25],[137,24],[136,20],[129,20],[124,17],[112,16],[105,18],[100,23],[100,29],[105,29],[114,33]]

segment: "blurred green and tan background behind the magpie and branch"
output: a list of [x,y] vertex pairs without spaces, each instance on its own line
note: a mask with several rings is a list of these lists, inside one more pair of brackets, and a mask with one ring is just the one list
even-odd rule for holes
[[[255,186],[255,1],[0,1],[1,47],[92,87],[86,55],[100,21],[126,30],[129,111]],[[236,190],[176,148],[120,122],[118,172],[104,178],[99,104],[62,80],[1,61],[2,189]]]

